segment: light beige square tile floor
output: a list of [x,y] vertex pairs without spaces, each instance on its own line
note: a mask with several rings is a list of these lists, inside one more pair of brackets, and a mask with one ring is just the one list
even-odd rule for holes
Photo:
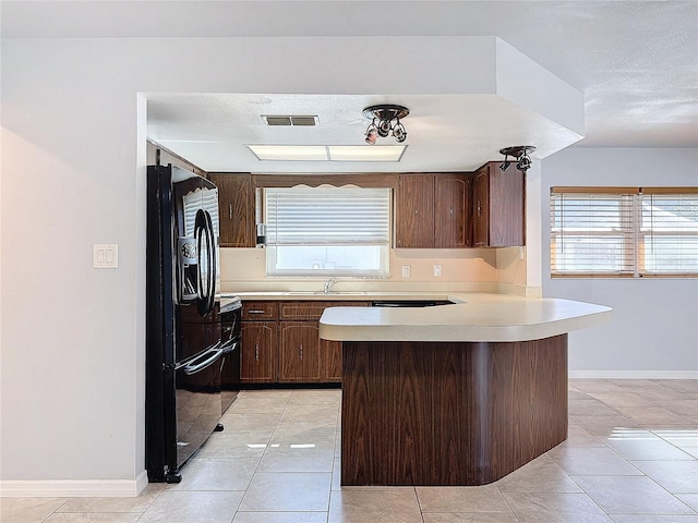
[[698,380],[570,379],[569,438],[481,487],[340,487],[334,390],[244,391],[137,498],[0,498],[2,523],[698,522]]

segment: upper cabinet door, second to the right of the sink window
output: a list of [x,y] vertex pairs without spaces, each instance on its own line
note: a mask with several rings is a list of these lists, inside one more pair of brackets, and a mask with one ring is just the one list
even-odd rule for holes
[[434,246],[436,248],[468,246],[468,181],[466,174],[434,175]]

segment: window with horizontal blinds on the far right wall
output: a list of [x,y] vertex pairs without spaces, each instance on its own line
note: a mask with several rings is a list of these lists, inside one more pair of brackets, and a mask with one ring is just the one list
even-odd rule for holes
[[695,187],[553,187],[552,276],[698,276]]

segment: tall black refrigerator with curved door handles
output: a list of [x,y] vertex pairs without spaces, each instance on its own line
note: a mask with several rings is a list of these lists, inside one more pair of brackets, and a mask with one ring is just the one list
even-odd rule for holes
[[218,259],[216,186],[184,169],[149,166],[145,398],[149,482],[179,483],[186,460],[214,430],[222,429],[221,376],[239,339],[221,323],[226,314],[217,292]]

